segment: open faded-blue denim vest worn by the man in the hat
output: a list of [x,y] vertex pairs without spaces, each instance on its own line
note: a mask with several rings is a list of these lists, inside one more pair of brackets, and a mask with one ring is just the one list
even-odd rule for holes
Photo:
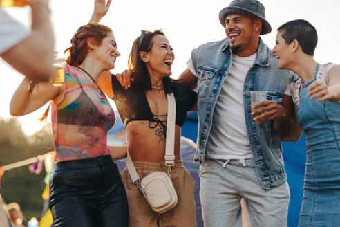
[[[209,42],[194,49],[191,60],[198,76],[198,147],[195,161],[203,163],[205,154],[209,152],[206,145],[216,100],[232,65],[232,50],[227,39]],[[249,91],[267,91],[268,100],[281,102],[289,80],[290,71],[277,69],[276,58],[260,38],[256,60],[245,78],[243,100],[250,147],[264,190],[285,183],[287,175],[283,167],[281,138],[274,131],[274,121],[258,125],[252,120]]]

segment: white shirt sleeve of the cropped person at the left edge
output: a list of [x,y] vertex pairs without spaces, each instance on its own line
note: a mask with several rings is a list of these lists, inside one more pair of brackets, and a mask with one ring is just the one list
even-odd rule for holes
[[30,35],[17,21],[0,7],[0,54],[15,46]]

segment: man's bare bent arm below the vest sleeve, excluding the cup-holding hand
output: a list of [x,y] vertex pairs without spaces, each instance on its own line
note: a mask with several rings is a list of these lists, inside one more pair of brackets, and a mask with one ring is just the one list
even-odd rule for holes
[[303,131],[297,119],[292,96],[283,95],[282,106],[285,109],[285,116],[274,121],[274,130],[281,136],[282,142],[297,142]]

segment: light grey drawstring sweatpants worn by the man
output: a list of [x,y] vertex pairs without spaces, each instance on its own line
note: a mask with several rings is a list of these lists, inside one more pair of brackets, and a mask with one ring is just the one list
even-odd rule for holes
[[205,158],[200,165],[200,201],[205,226],[241,227],[240,199],[247,201],[252,227],[287,226],[290,192],[287,182],[265,192],[254,159],[245,163]]

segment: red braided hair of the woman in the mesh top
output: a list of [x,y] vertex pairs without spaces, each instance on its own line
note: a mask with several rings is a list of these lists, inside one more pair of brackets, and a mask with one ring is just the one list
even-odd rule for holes
[[87,44],[88,38],[93,38],[95,44],[100,46],[102,44],[102,39],[110,33],[113,34],[111,28],[102,24],[89,23],[78,28],[70,41],[72,46],[64,51],[65,53],[68,53],[68,58],[66,60],[67,64],[70,66],[79,66],[82,64],[89,50]]

